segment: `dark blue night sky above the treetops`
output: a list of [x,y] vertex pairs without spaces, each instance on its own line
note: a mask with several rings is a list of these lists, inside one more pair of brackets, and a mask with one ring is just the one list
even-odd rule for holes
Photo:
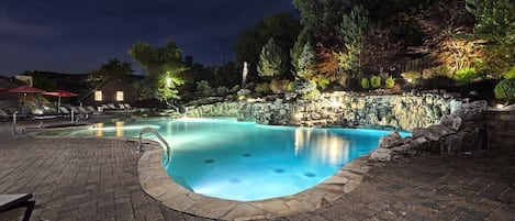
[[[176,42],[204,65],[234,58],[243,30],[291,0],[0,0],[0,75],[88,73],[108,58],[133,62],[136,41]],[[141,69],[133,63],[136,74]]]

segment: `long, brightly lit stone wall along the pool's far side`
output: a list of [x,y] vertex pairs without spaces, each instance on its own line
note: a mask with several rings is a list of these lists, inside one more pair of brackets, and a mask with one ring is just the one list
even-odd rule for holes
[[411,130],[439,122],[461,100],[450,95],[403,93],[363,96],[350,92],[323,93],[315,101],[228,102],[200,106],[188,117],[237,117],[271,125],[389,128]]

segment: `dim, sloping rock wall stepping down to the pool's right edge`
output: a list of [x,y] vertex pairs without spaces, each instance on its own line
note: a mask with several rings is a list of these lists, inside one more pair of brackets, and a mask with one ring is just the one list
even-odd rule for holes
[[470,153],[485,147],[485,125],[483,111],[486,101],[463,103],[440,122],[428,128],[412,130],[412,136],[402,139],[398,132],[381,137],[379,148],[370,154],[376,161],[392,161],[413,156],[418,151],[433,153]]

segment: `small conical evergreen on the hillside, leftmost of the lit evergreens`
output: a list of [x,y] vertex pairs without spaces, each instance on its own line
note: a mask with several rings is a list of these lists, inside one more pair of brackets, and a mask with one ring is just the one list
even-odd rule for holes
[[284,71],[286,57],[273,38],[262,47],[259,54],[258,74],[261,78],[280,77]]

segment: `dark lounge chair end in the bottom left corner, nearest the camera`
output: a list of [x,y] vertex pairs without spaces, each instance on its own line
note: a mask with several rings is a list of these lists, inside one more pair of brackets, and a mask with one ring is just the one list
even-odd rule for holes
[[31,194],[22,195],[0,195],[0,212],[18,209],[25,207],[25,214],[23,216],[23,221],[29,221],[31,219],[32,210],[36,203],[32,198]]

